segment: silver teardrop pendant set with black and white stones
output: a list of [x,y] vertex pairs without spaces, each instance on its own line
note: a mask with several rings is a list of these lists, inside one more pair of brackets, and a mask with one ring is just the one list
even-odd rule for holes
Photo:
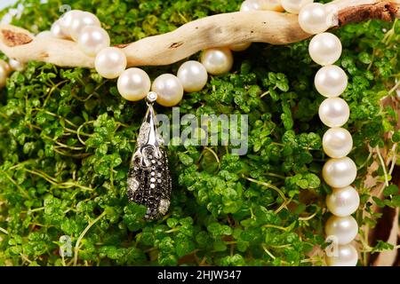
[[167,213],[172,191],[164,140],[156,129],[156,113],[153,108],[156,98],[156,92],[148,93],[148,111],[132,155],[127,188],[129,201],[147,206],[148,219],[163,217]]

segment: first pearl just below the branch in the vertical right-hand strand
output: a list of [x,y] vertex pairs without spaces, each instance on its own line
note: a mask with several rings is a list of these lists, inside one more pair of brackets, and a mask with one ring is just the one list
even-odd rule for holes
[[331,65],[340,59],[341,43],[338,36],[322,33],[313,37],[308,45],[311,58],[319,65]]

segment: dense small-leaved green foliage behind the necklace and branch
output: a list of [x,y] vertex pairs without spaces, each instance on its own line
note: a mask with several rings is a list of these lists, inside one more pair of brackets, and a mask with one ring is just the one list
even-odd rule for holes
[[[240,2],[24,0],[26,9],[13,23],[36,33],[60,16],[61,4],[70,4],[95,12],[113,43],[127,43],[237,11]],[[346,127],[354,137],[351,157],[362,199],[355,217],[369,228],[380,217],[371,212],[373,202],[400,205],[396,185],[385,188],[385,201],[372,201],[371,188],[364,187],[367,167],[379,161],[368,145],[391,147],[400,140],[399,132],[383,140],[397,117],[380,106],[380,99],[396,95],[388,90],[399,77],[399,30],[398,21],[369,21],[334,31],[344,48],[338,64],[349,75]],[[146,70],[155,78],[178,67]],[[116,81],[93,70],[30,62],[0,94],[0,264],[324,264],[308,256],[324,247],[329,217],[324,198],[330,188],[320,179],[326,129],[317,115],[323,100],[313,88],[317,69],[308,41],[257,43],[235,54],[231,73],[186,94],[181,114],[249,114],[250,150],[239,157],[225,146],[169,146],[172,206],[164,219],[149,222],[142,218],[146,209],[128,203],[125,194],[145,105],[120,98]],[[373,176],[382,181],[390,174],[380,167]],[[71,257],[59,254],[62,235],[72,239]],[[368,252],[392,248],[382,241],[372,248],[364,232],[360,236],[360,264],[367,264]]]

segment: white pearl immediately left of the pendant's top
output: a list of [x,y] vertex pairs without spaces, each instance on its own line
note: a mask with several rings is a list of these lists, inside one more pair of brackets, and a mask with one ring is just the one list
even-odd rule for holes
[[129,68],[119,76],[117,87],[124,99],[136,101],[148,95],[151,81],[148,74],[140,68]]

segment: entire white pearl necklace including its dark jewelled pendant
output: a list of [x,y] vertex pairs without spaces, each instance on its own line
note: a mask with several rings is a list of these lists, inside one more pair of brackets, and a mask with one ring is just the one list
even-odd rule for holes
[[[313,0],[245,0],[241,12],[269,10],[299,14],[299,24],[305,32],[316,35],[308,46],[311,59],[322,67],[316,73],[316,90],[326,97],[319,107],[319,117],[328,127],[323,138],[324,153],[330,157],[324,164],[322,176],[332,193],[326,197],[326,206],[332,217],[325,225],[327,241],[326,262],[331,266],[354,266],[358,256],[350,242],[356,238],[358,225],[351,215],[356,212],[360,199],[351,184],[356,179],[356,164],[347,155],[353,147],[348,130],[341,128],[349,118],[349,106],[340,95],[346,90],[348,77],[337,66],[342,46],[340,39],[325,31],[335,25],[338,9],[334,4],[317,4]],[[140,68],[127,67],[124,51],[110,47],[107,31],[100,28],[100,20],[90,12],[69,11],[52,24],[51,31],[38,37],[55,36],[71,39],[81,50],[94,57],[97,72],[108,79],[117,80],[117,89],[124,99],[146,99],[148,112],[140,127],[137,146],[132,155],[128,175],[128,197],[148,207],[148,218],[161,217],[168,211],[172,182],[164,141],[157,134],[156,114],[153,104],[176,106],[184,92],[201,91],[208,74],[221,75],[233,66],[232,51],[244,51],[251,43],[238,43],[229,47],[203,51],[201,62],[190,60],[183,63],[177,75],[164,74],[151,83],[148,74]],[[9,64],[0,61],[0,87],[11,70],[21,70],[16,60]]]

